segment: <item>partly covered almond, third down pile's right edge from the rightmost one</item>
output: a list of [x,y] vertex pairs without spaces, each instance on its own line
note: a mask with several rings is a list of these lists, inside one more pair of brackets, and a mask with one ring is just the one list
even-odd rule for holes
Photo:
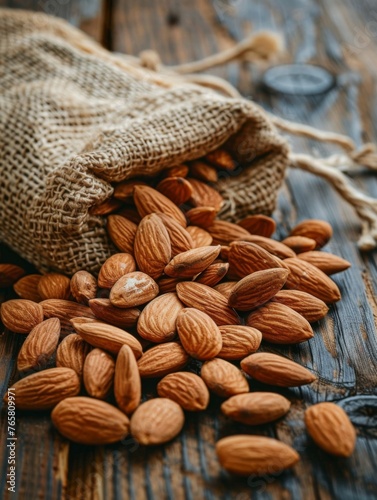
[[324,318],[329,311],[323,300],[300,290],[280,290],[271,300],[290,307],[309,323]]

